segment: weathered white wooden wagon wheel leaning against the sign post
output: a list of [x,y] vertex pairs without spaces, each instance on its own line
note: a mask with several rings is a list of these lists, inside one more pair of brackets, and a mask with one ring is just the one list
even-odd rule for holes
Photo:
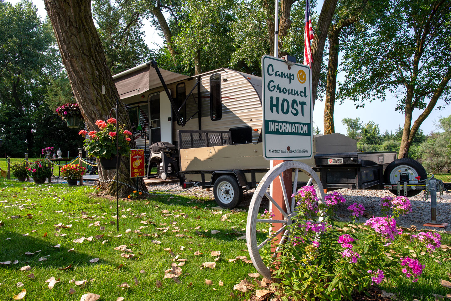
[[[286,229],[286,226],[290,225],[292,223],[292,218],[295,217],[295,198],[292,197],[291,200],[286,194],[285,191],[285,183],[282,178],[282,172],[286,171],[288,169],[294,169],[295,172],[295,178],[294,178],[294,187],[293,187],[293,194],[298,190],[297,182],[298,182],[298,175],[299,171],[304,172],[309,177],[309,180],[307,182],[307,185],[313,185],[316,190],[316,194],[318,196],[319,202],[322,202],[324,199],[324,190],[322,189],[321,181],[319,180],[318,175],[313,171],[311,167],[308,165],[301,163],[301,162],[295,162],[295,161],[287,161],[282,162],[275,167],[272,167],[271,170],[269,170],[265,176],[263,176],[262,181],[258,184],[257,188],[255,189],[255,192],[253,194],[250,206],[249,206],[249,213],[248,213],[248,221],[246,224],[246,240],[249,250],[250,258],[252,259],[252,263],[257,269],[257,271],[263,275],[267,279],[271,279],[271,270],[266,266],[266,264],[263,263],[262,257],[260,256],[260,251],[262,250],[265,245],[270,243],[273,238],[275,238],[278,235],[282,235],[281,241],[284,241],[286,237],[290,235],[290,231]],[[276,178],[279,178],[279,181],[281,182],[283,194],[284,194],[284,202],[285,207],[287,210],[283,210],[279,204],[276,203],[274,199],[267,193],[267,189],[269,185],[271,185],[272,181],[274,181]],[[258,218],[258,210],[260,208],[260,204],[262,202],[263,196],[266,195],[266,197],[270,200],[270,202],[273,204],[274,210],[279,210],[280,213],[283,215],[283,220],[276,220],[276,219],[260,219]],[[274,233],[271,233],[269,237],[266,237],[266,239],[258,242],[257,241],[257,223],[263,222],[263,223],[281,223],[283,226]],[[279,250],[279,248],[276,248],[276,252]]]

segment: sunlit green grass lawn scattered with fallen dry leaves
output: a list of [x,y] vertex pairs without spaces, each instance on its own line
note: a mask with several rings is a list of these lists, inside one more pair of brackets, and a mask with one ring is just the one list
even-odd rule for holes
[[[78,301],[87,292],[100,294],[100,300],[105,301],[114,301],[120,296],[127,301],[247,300],[253,292],[232,298],[229,295],[233,286],[247,278],[258,288],[255,280],[248,276],[248,273],[256,272],[252,264],[241,260],[228,262],[239,255],[249,258],[246,241],[237,240],[244,235],[247,213],[227,214],[227,218],[221,221],[221,216],[230,211],[213,214],[212,210],[204,209],[216,206],[211,199],[182,195],[120,199],[120,232],[116,232],[115,199],[97,197],[89,186],[38,186],[0,180],[0,188],[4,188],[0,191],[0,262],[18,260],[17,264],[0,264],[0,300],[12,300],[23,288],[27,290],[24,300],[28,301]],[[55,227],[60,223],[72,227]],[[162,227],[169,228],[166,232],[156,229]],[[133,232],[135,230],[141,233]],[[179,232],[173,232],[177,230]],[[212,230],[221,232],[212,234]],[[176,236],[180,234],[184,236]],[[103,237],[95,239],[100,235]],[[116,237],[118,235],[121,236]],[[73,242],[90,236],[94,236],[92,241]],[[161,244],[152,240],[161,241]],[[450,236],[443,235],[442,243],[450,242]],[[55,248],[55,245],[60,246]],[[120,245],[126,245],[131,252],[114,250]],[[74,251],[68,252],[72,248]],[[194,255],[195,251],[202,255]],[[215,262],[211,251],[221,251],[216,269],[201,269],[202,263]],[[25,255],[25,252],[35,254]],[[451,264],[444,260],[451,257],[450,252],[439,251],[434,258],[422,260],[426,269],[418,283],[396,278],[382,282],[381,288],[395,293],[400,300],[435,300],[431,293],[451,293],[451,289],[439,284],[439,279],[451,280],[446,274],[451,272]],[[121,253],[135,256],[126,259],[121,257]],[[186,261],[177,261],[177,255],[177,259]],[[41,257],[47,260],[39,261]],[[95,258],[99,260],[89,262]],[[442,264],[434,262],[436,259]],[[165,270],[170,269],[173,262],[184,262],[180,266],[179,284],[170,278],[163,279]],[[20,271],[26,265],[31,270]],[[61,270],[69,265],[70,269]],[[34,274],[34,279],[27,277],[30,273]],[[51,277],[60,279],[52,290],[45,282]],[[87,280],[87,283],[80,287],[74,282],[69,283],[71,279]],[[207,285],[205,279],[212,280],[215,285]],[[157,280],[162,282],[161,287],[156,286]],[[218,285],[220,281],[224,282],[223,286]],[[18,282],[23,282],[23,287],[17,287]],[[123,282],[127,282],[130,288],[118,287]],[[69,294],[71,288],[75,290],[72,295]]]

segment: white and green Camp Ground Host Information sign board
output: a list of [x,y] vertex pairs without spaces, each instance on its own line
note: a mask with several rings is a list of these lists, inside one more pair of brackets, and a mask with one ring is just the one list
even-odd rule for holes
[[267,160],[312,157],[312,72],[307,65],[262,56],[263,156]]

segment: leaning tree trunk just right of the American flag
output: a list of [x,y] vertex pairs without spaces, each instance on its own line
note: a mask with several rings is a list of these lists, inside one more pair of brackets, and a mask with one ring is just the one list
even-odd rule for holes
[[318,90],[319,75],[321,74],[322,54],[326,44],[327,32],[331,25],[332,17],[335,13],[337,0],[325,0],[321,14],[319,14],[318,25],[314,30],[312,42],[312,101],[315,108],[316,94]]

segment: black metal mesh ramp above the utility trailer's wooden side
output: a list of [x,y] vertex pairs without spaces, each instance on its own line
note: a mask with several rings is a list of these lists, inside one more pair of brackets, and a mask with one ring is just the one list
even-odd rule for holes
[[230,145],[230,131],[178,130],[179,148]]

